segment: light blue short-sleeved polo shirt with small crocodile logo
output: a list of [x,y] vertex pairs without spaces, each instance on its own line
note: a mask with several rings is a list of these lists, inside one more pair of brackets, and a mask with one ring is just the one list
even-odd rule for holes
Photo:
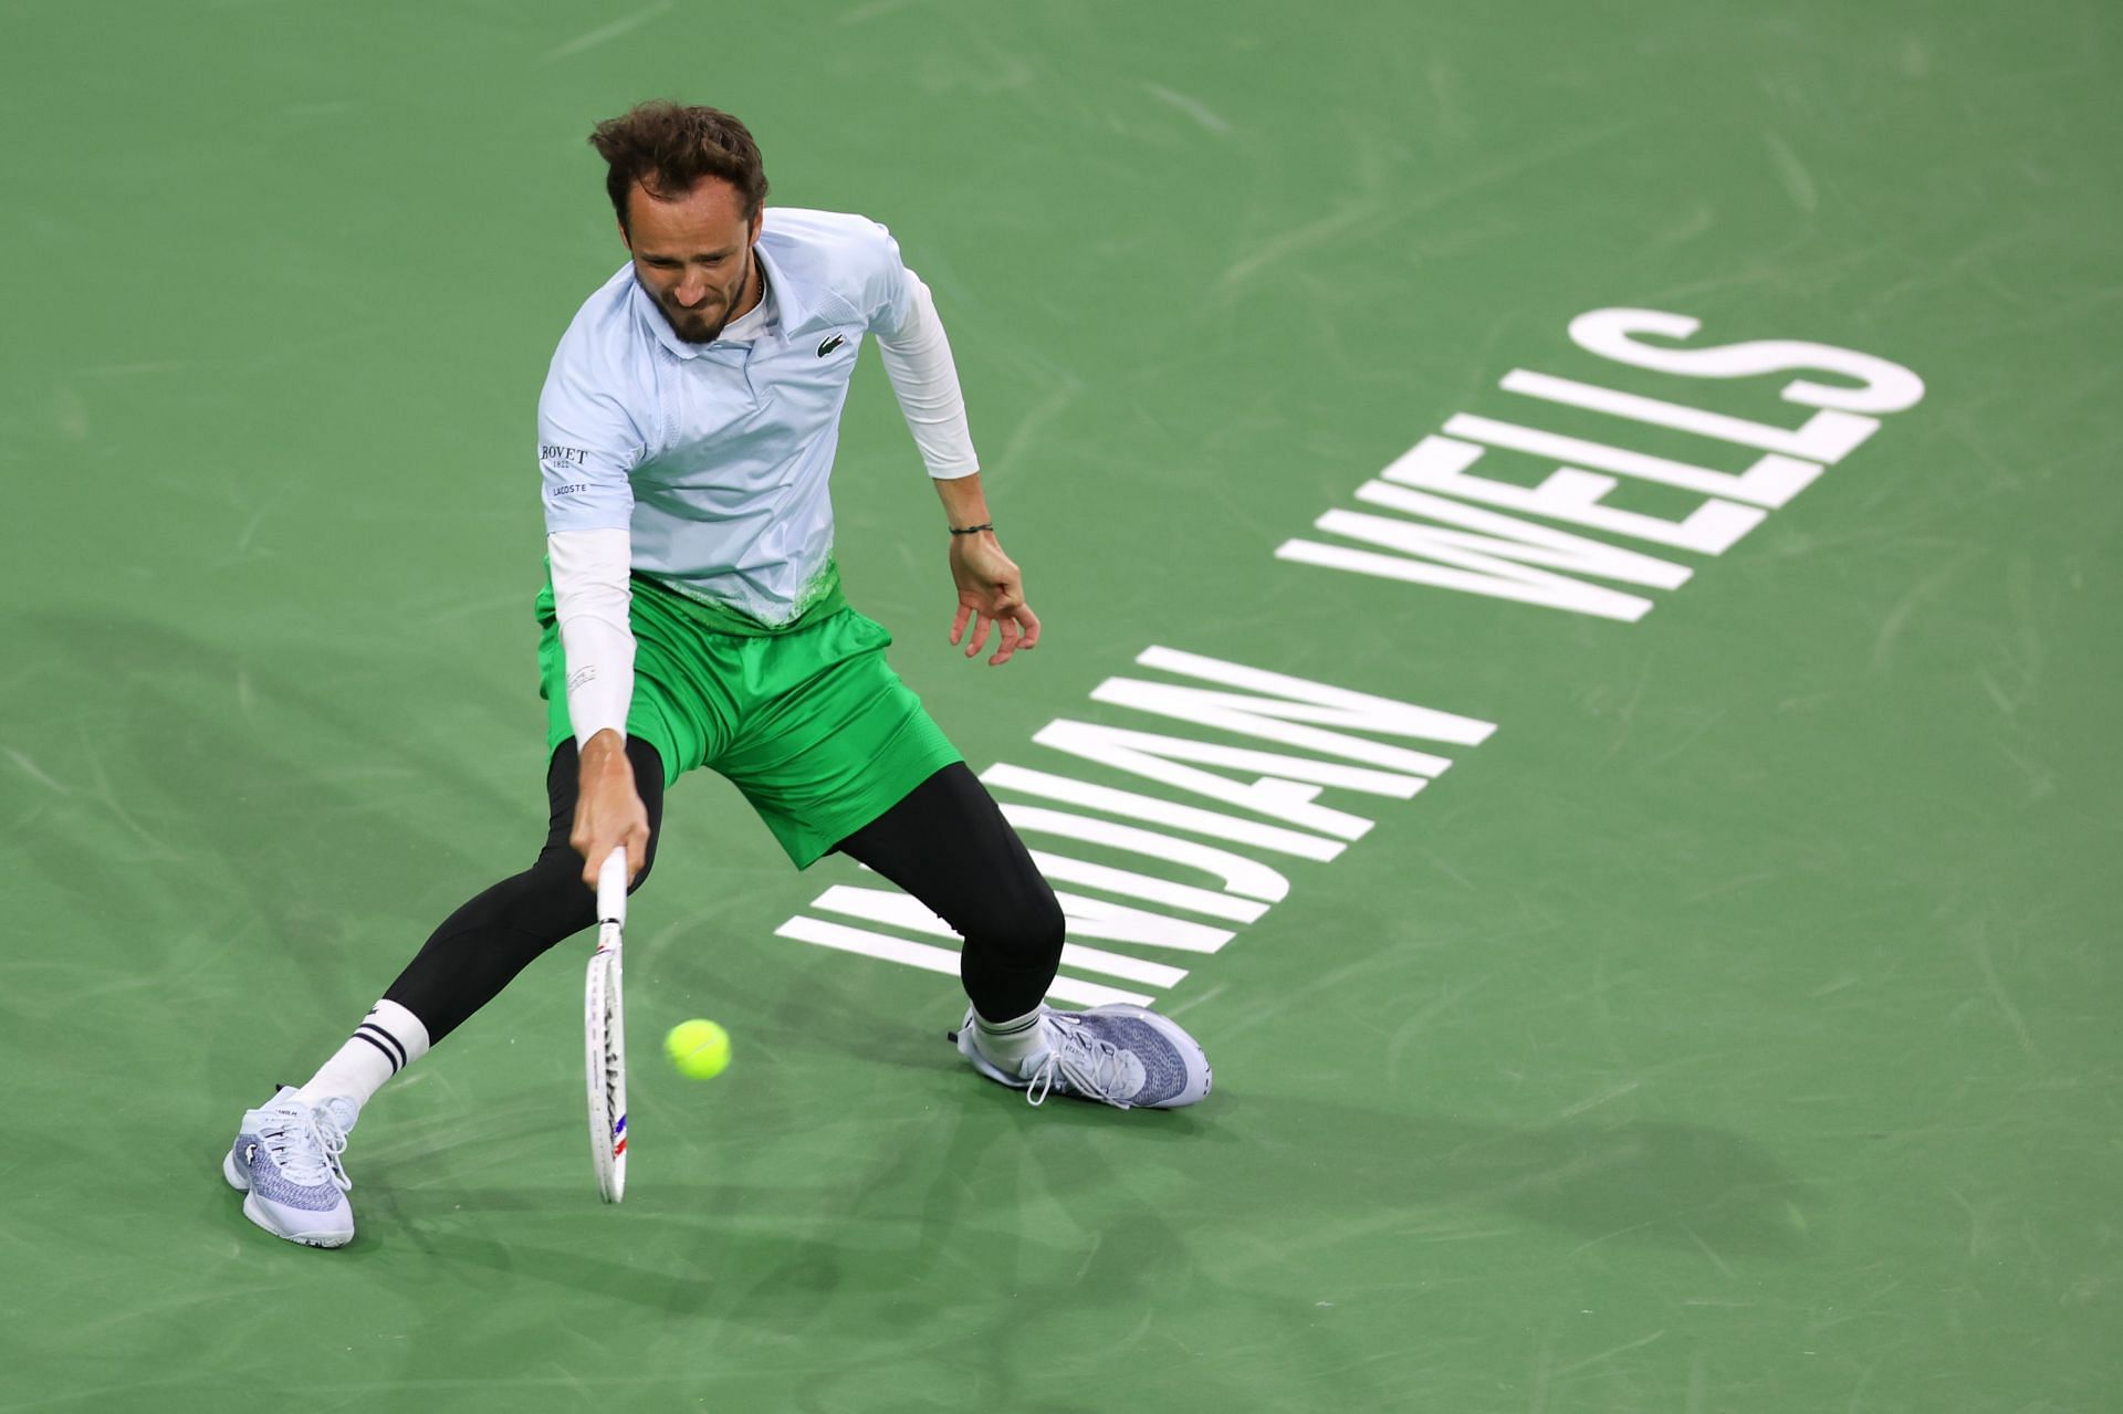
[[[864,333],[917,282],[868,217],[766,208],[766,323],[688,344],[626,263],[575,312],[539,395],[546,531],[633,533],[633,567],[764,626],[836,586],[826,478]],[[728,333],[728,331],[726,331]]]

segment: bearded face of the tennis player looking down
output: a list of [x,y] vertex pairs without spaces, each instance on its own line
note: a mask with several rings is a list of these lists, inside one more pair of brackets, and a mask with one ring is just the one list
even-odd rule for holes
[[745,221],[745,200],[709,176],[664,202],[635,183],[626,193],[626,248],[635,278],[688,344],[713,344],[752,287],[752,242],[760,219]]

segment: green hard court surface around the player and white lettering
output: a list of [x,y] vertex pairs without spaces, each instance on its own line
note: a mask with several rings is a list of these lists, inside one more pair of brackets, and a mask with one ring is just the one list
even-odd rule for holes
[[[17,0],[4,34],[0,1412],[2123,1408],[2115,4]],[[866,352],[841,563],[902,677],[977,769],[1216,815],[998,779],[1106,822],[1028,841],[1240,898],[1129,824],[1287,894],[1068,883],[1231,934],[1081,930],[1136,979],[1066,968],[1155,996],[1216,1089],[1032,1108],[945,1045],[953,979],[786,932],[949,941],[815,907],[879,885],[688,777],[628,934],[626,1202],[584,941],[365,1110],[355,1244],[282,1244],[217,1172],[238,1115],[537,847],[533,408],[622,261],[584,136],[650,96],[745,117],[775,202],[890,223],[936,291],[1047,639],[945,645]],[[1613,308],[1923,393],[1571,340]],[[1690,571],[1550,567],[1635,618],[1278,556],[1435,567],[1314,522],[1478,505],[1359,490],[1499,423],[1730,478],[1764,454],[1730,420],[1817,412],[1794,380],[1879,427],[1726,499],[1722,552],[1482,503]],[[1490,446],[1492,486],[1601,471]],[[1639,531],[1709,505],[1630,465]],[[1093,696],[1212,686],[1151,648],[1495,732],[1374,713],[1352,762]],[[1452,766],[1327,783],[1371,822],[1331,839],[1055,720]],[[694,1015],[737,1038],[705,1085],[654,1053]]]

